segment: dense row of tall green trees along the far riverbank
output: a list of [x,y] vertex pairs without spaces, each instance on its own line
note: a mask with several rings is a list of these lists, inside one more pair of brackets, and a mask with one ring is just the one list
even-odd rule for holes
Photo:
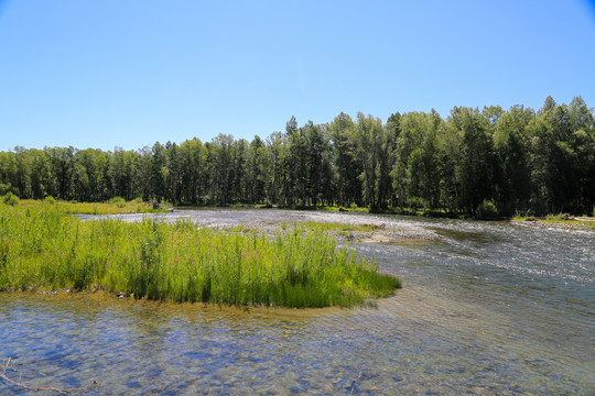
[[155,143],[138,151],[15,147],[0,153],[0,195],[177,205],[421,208],[470,213],[489,204],[516,211],[591,213],[595,205],[594,109],[548,97],[534,111],[455,107],[394,113],[386,123],[358,113],[251,142]]

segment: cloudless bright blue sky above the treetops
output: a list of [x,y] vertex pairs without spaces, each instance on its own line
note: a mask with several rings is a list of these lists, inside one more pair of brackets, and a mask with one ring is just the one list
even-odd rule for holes
[[0,151],[248,141],[548,95],[595,106],[595,4],[0,0]]

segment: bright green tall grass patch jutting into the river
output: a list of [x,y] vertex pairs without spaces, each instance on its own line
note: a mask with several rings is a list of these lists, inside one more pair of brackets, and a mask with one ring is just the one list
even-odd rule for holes
[[80,221],[57,205],[0,204],[0,289],[127,293],[136,298],[285,307],[351,306],[399,279],[324,232],[277,235],[190,221]]

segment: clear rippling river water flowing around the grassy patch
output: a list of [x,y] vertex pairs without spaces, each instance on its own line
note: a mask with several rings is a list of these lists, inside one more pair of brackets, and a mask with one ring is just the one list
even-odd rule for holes
[[[354,244],[403,282],[374,307],[245,310],[3,293],[6,376],[91,395],[595,394],[595,232],[280,210],[160,217],[209,227],[383,223],[440,239]],[[0,380],[0,395],[28,392]]]

